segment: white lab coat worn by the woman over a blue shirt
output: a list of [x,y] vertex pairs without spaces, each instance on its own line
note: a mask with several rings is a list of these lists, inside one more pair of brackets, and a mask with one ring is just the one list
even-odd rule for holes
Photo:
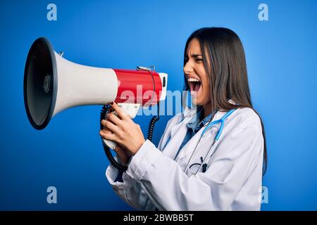
[[[223,115],[225,112],[218,111],[213,120]],[[196,175],[184,171],[204,127],[174,160],[192,117],[192,110],[186,108],[170,119],[158,148],[145,141],[130,159],[123,183],[114,182],[118,169],[109,165],[106,178],[113,190],[138,210],[260,210],[263,136],[259,116],[250,108],[235,110],[225,120],[213,156],[206,161],[206,172]],[[218,127],[206,131],[190,164],[201,162]]]

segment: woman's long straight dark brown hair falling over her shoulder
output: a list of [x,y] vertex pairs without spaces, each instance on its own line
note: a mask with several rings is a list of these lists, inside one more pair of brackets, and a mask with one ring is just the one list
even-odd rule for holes
[[[209,88],[211,90],[211,112],[233,108],[251,108],[251,95],[247,76],[247,63],[244,49],[240,38],[228,28],[204,27],[193,32],[187,39],[184,53],[187,56],[188,44],[192,39],[198,39],[201,47],[204,68],[209,78]],[[186,76],[184,90],[189,90]],[[228,102],[231,99],[237,105]],[[259,115],[259,113],[254,110]],[[266,135],[263,122],[261,120],[262,134],[264,139],[263,153],[263,175],[267,169]]]

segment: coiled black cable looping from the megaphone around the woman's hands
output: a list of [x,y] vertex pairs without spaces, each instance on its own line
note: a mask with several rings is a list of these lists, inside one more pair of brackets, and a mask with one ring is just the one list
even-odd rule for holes
[[[101,113],[100,113],[100,129],[104,129],[104,126],[102,126],[101,124],[101,120],[104,120],[106,118],[106,113],[109,112],[109,109],[111,108],[110,105],[104,105],[101,109]],[[157,105],[157,116],[154,116],[151,118],[150,122],[149,122],[149,129],[147,131],[147,139],[149,141],[152,141],[152,136],[153,136],[153,131],[154,131],[154,125],[155,123],[159,120],[160,118],[160,114],[159,114],[159,103]],[[124,165],[120,165],[115,158],[113,158],[113,155],[111,153],[111,148],[109,148],[108,146],[106,146],[106,143],[104,143],[104,139],[101,137],[101,143],[102,143],[102,147],[104,148],[104,153],[106,153],[106,157],[108,158],[109,162],[111,163],[111,165],[113,165],[113,167],[115,167],[116,169],[119,169],[123,172],[127,171],[128,166],[124,166]]]

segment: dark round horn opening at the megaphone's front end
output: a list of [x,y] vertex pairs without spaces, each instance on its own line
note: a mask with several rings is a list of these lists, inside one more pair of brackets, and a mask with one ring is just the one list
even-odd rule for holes
[[35,129],[44,129],[54,112],[57,94],[56,58],[45,38],[32,44],[24,72],[24,102]]

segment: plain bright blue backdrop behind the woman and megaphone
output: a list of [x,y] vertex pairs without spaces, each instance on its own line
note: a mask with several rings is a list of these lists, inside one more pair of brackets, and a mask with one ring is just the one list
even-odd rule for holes
[[[46,6],[57,6],[57,21]],[[258,19],[268,4],[268,21]],[[185,41],[200,27],[237,32],[247,56],[254,106],[268,143],[268,204],[262,210],[317,210],[317,1],[1,1],[0,210],[131,210],[106,181],[100,105],[71,108],[46,129],[23,103],[27,51],[47,37],[76,63],[104,68],[156,65],[168,89],[182,89]],[[157,145],[166,122],[154,130]],[[135,119],[147,134],[151,117]],[[46,203],[56,186],[57,204]]]

